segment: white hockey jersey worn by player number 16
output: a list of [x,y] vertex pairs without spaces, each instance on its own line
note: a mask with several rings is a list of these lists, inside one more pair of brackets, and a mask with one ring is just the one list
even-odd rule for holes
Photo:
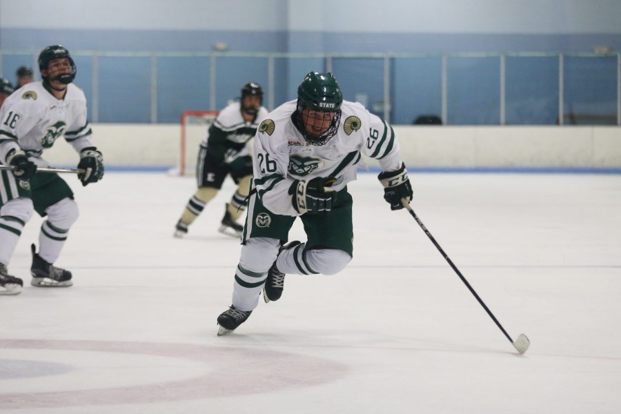
[[86,97],[73,83],[68,84],[64,99],[56,99],[41,81],[28,83],[4,101],[0,108],[0,162],[12,149],[23,149],[39,166],[46,148],[65,137],[79,153],[94,146],[92,131],[86,120]]

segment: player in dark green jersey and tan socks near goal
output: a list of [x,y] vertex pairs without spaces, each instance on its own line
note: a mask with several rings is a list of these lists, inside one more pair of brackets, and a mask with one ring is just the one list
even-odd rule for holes
[[237,219],[246,211],[246,197],[253,176],[253,161],[246,143],[255,136],[259,121],[268,113],[262,101],[263,89],[259,83],[246,83],[241,101],[230,103],[221,110],[210,126],[199,149],[198,189],[177,221],[175,237],[184,237],[188,233],[188,226],[217,195],[229,174],[237,184],[237,191],[226,204],[219,232],[232,237],[242,235],[244,226],[237,223]]

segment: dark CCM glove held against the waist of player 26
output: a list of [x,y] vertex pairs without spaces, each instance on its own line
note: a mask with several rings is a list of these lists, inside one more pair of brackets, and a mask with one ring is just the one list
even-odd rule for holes
[[311,181],[293,181],[289,194],[293,195],[293,207],[298,213],[328,214],[336,201],[332,189],[335,178],[315,177]]

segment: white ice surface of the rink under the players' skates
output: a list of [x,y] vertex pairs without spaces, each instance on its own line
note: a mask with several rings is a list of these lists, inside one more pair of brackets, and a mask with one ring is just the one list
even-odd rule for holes
[[[413,207],[518,355],[375,174],[354,197],[354,258],[288,275],[279,302],[217,337],[239,243],[217,233],[231,181],[190,228],[193,179],[109,172],[30,286],[41,219],[0,297],[1,413],[620,413],[621,176],[413,174]],[[73,185],[76,184],[76,185]],[[291,238],[300,237],[296,225]]]

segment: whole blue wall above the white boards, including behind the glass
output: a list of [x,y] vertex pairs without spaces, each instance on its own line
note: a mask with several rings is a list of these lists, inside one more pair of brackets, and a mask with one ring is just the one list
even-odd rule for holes
[[[601,46],[621,50],[618,0],[55,0],[53,8],[45,3],[0,0],[0,74],[14,81],[17,66],[33,66],[43,46],[61,43],[75,56],[76,82],[96,109],[91,117],[104,122],[148,122],[153,102],[158,122],[177,122],[183,110],[221,108],[250,80],[270,86],[266,101],[278,105],[295,98],[306,72],[326,70],[328,60],[308,53],[391,53],[391,121],[410,124],[420,115],[440,115],[441,54],[452,54],[444,122],[497,124],[502,52],[513,54],[506,57],[506,122],[555,124],[559,60],[552,54]],[[209,53],[217,43],[233,55],[218,56],[212,66]],[[268,85],[268,60],[239,52],[287,55],[273,59],[274,83]],[[491,55],[455,55],[464,52]],[[593,122],[616,122],[616,59],[565,58],[568,119],[582,114],[593,115]],[[360,99],[382,114],[381,55],[337,57],[332,68],[346,99]]]

